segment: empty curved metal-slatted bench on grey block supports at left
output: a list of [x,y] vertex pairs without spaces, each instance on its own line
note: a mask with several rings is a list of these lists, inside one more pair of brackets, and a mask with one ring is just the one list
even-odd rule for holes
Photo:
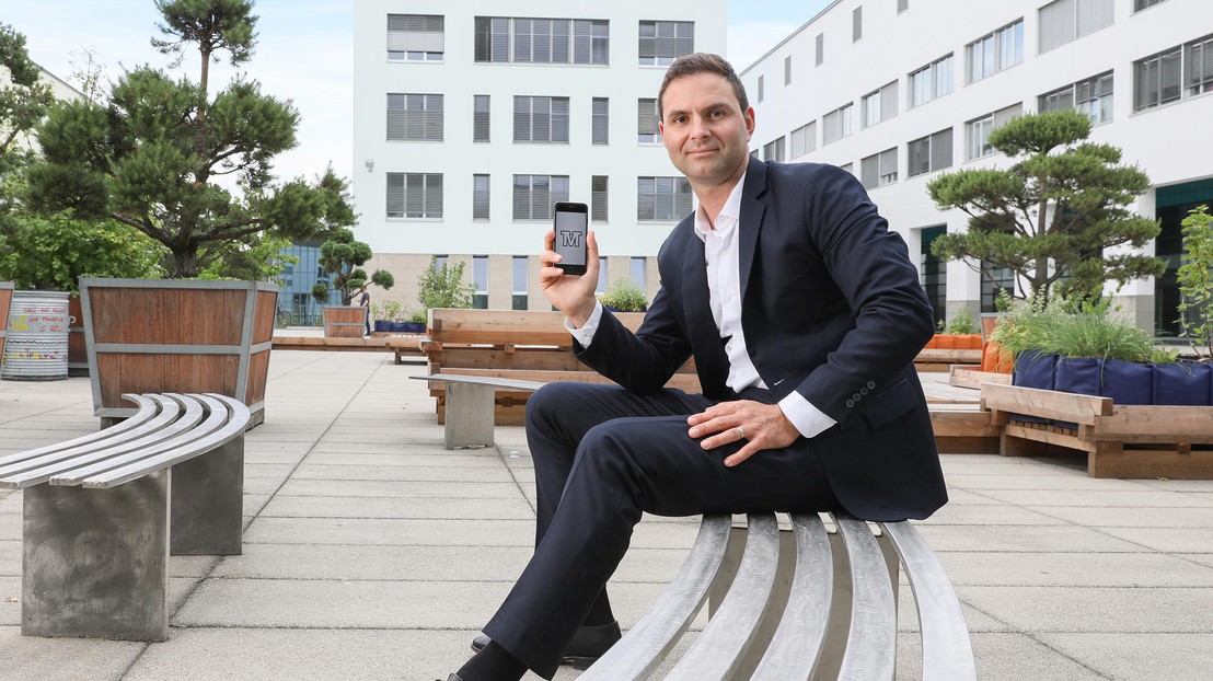
[[114,426],[0,458],[24,490],[24,635],[164,641],[169,555],[240,554],[249,408],[123,397],[138,409]]

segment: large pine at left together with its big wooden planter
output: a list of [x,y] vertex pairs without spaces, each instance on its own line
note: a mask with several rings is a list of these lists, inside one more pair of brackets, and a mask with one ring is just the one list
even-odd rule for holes
[[124,392],[220,392],[249,404],[256,424],[278,299],[266,282],[281,261],[249,255],[284,238],[331,233],[352,225],[354,212],[331,169],[314,182],[273,178],[274,157],[296,146],[290,101],[244,76],[210,91],[209,68],[221,52],[237,66],[252,55],[252,2],[171,0],[158,8],[163,39],[153,44],[171,57],[195,47],[198,79],[143,66],[124,73],[99,104],[52,107],[38,129],[44,158],[28,171],[29,205],[115,220],[169,251],[170,279],[80,283],[98,415],[129,415]]

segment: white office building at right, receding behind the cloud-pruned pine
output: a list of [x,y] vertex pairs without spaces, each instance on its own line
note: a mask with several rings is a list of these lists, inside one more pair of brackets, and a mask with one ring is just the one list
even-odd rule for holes
[[929,243],[967,228],[927,182],[1006,168],[990,131],[1027,112],[1074,107],[1090,140],[1123,152],[1154,186],[1135,210],[1162,221],[1147,252],[1167,276],[1120,305],[1175,331],[1179,221],[1213,204],[1213,2],[1209,0],[838,0],[742,74],[765,159],[849,168],[917,259],[936,317],[992,311],[995,285]]

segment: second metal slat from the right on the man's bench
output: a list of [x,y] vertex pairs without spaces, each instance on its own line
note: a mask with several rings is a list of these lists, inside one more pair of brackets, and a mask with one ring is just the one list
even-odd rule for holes
[[898,614],[888,566],[865,521],[836,515],[835,522],[847,545],[854,592],[838,679],[892,680],[896,670]]

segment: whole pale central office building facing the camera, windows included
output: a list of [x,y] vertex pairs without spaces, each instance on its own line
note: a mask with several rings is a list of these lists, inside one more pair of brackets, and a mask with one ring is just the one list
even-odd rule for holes
[[724,53],[725,1],[354,4],[354,178],[375,267],[416,307],[432,255],[462,261],[477,307],[548,310],[535,284],[558,200],[590,205],[605,276],[659,285],[691,210],[657,132],[671,61]]

